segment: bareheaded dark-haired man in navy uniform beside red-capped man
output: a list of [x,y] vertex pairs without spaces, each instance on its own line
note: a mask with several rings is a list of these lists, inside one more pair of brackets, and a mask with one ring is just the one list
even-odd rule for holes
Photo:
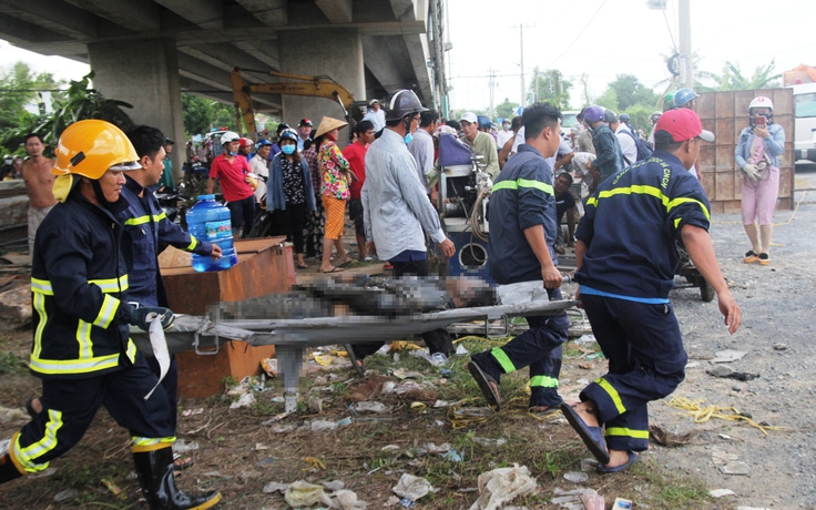
[[[526,108],[524,142],[508,160],[490,194],[490,275],[499,285],[543,280],[549,298],[561,299],[561,273],[555,266],[555,197],[552,157],[561,142],[561,112],[549,103]],[[468,364],[488,404],[501,407],[502,374],[530,367],[533,412],[557,410],[561,345],[570,322],[561,312],[552,317],[528,317],[530,329],[502,347],[479,353]]]

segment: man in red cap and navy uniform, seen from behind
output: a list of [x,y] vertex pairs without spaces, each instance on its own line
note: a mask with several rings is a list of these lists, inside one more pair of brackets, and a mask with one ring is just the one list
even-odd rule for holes
[[714,287],[731,334],[742,313],[717,265],[708,237],[711,207],[687,169],[702,142],[713,142],[692,110],[670,110],[655,125],[652,157],[599,185],[575,233],[582,299],[609,373],[561,410],[599,471],[622,471],[649,448],[647,404],[670,395],[687,360],[669,292],[682,242]]

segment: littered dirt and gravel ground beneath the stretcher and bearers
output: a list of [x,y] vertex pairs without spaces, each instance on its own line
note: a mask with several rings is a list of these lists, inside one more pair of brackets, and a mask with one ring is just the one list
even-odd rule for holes
[[[814,184],[816,174],[797,173],[797,187]],[[616,497],[633,500],[634,508],[816,508],[816,268],[812,264],[816,237],[810,232],[816,222],[816,192],[799,193],[797,201],[800,203],[795,212],[775,215],[777,227],[768,267],[742,263],[748,244],[740,215],[713,218],[712,237],[721,267],[743,309],[744,325],[736,335],[730,336],[723,326],[716,299],[703,303],[695,288],[677,289],[671,295],[690,355],[686,380],[672,397],[704,400],[702,407],[734,407],[743,416],[779,430],[765,435],[745,422],[716,417],[695,424],[687,411],[670,407],[669,399],[653,402],[652,425],[667,432],[690,434],[687,442],[672,448],[653,442],[642,462],[628,472],[600,476],[588,469],[588,480],[577,484],[564,475],[581,471],[581,459],[591,456],[560,416],[541,419],[523,411],[524,371],[502,379],[502,396],[511,400],[508,410],[468,422],[457,418],[456,408],[432,407],[436,399],[468,397],[472,399],[459,408],[484,405],[463,369],[468,357],[453,358],[448,367],[452,373],[442,375],[427,361],[402,351],[397,361],[392,356],[373,358],[367,380],[377,375],[399,385],[402,381],[395,377],[395,370],[400,375],[398,370],[406,368],[420,373],[415,382],[422,392],[373,396],[371,400],[388,407],[385,414],[354,411],[350,399],[365,394],[366,388],[356,386],[358,380],[350,369],[322,369],[314,360],[307,364],[298,412],[273,424],[263,425],[283,411],[283,404],[273,400],[280,397],[274,379],[266,385],[272,390],[256,392],[257,404],[252,408],[231,410],[230,404],[237,397],[183,399],[180,410],[202,412],[180,417],[180,439],[197,442],[198,449],[191,453],[195,466],[178,476],[177,482],[186,490],[222,490],[224,500],[217,508],[284,509],[288,507],[280,493],[263,492],[268,482],[339,480],[368,508],[385,508],[394,496],[391,488],[407,472],[426,478],[436,488],[419,500],[417,508],[466,509],[478,497],[473,489],[480,473],[518,462],[530,469],[538,488],[513,504],[530,509],[559,508],[551,503],[555,489],[577,487],[596,490],[605,497],[606,508]],[[574,287],[568,286],[567,292],[574,292]],[[466,340],[463,345],[471,351],[490,347],[490,343],[479,340]],[[0,368],[13,365],[8,353],[27,360],[29,347],[30,332],[0,334]],[[725,365],[759,377],[740,381],[708,375],[715,353],[727,349],[747,355]],[[575,398],[585,380],[603,374],[602,359],[588,359],[593,354],[593,349],[574,343],[565,348],[561,392],[568,400]],[[590,367],[588,364],[592,368],[581,367]],[[0,376],[2,407],[19,408],[39,391],[38,379],[24,368],[18,366]],[[317,410],[317,400],[322,410]],[[350,425],[312,431],[315,420],[345,418],[350,418]],[[0,421],[0,438],[21,425]],[[100,411],[82,441],[53,461],[49,471],[0,487],[0,508],[146,508],[140,502],[132,473],[129,439],[125,430]],[[507,442],[491,445],[483,439]],[[429,442],[449,443],[463,460],[422,451],[429,449]],[[742,467],[734,462],[744,462],[748,473],[723,473],[721,465],[727,462],[732,468]],[[121,489],[121,494],[114,496],[105,482]],[[78,494],[55,502],[54,497],[67,489],[75,489]],[[707,496],[711,489],[730,489],[735,494],[714,499]]]

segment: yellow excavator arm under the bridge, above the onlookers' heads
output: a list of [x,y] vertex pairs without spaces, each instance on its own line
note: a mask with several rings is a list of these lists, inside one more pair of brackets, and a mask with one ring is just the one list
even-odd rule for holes
[[354,124],[366,114],[368,104],[366,101],[355,101],[354,94],[329,76],[306,76],[300,74],[288,74],[277,71],[266,71],[271,76],[287,79],[279,83],[255,83],[249,84],[241,76],[241,69],[235,68],[231,73],[233,85],[233,98],[238,115],[238,130],[241,124],[246,132],[257,133],[255,126],[255,111],[252,108],[252,94],[287,94],[304,95],[308,98],[325,98],[336,101],[343,109],[343,116],[348,122],[348,132],[354,132]]

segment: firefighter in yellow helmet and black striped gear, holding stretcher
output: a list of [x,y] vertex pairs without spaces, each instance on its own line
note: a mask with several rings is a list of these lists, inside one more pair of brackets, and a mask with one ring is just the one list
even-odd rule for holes
[[31,373],[42,379],[42,410],[0,451],[0,483],[41,472],[71,449],[104,406],[133,438],[133,460],[151,509],[205,509],[221,494],[185,494],[173,479],[170,405],[130,339],[130,325],[164,328],[173,313],[128,303],[129,274],[116,212],[123,172],[141,169],[113,124],[88,120],[60,136],[54,196],[38,228],[31,266],[34,309]]

